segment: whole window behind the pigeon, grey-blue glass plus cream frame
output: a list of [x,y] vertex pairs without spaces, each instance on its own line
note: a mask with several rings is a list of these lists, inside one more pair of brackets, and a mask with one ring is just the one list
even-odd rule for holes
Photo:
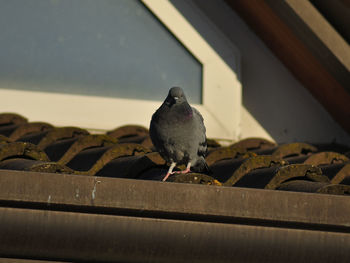
[[208,136],[237,136],[236,74],[169,1],[13,0],[0,13],[2,112],[58,126],[148,127],[168,89],[182,86]]

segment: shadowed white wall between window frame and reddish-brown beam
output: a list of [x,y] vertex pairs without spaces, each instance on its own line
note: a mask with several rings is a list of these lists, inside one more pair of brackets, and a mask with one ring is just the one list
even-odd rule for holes
[[[245,22],[222,0],[171,0],[196,27],[196,17],[208,18],[208,28],[196,28],[225,59],[220,44],[211,33],[221,31],[241,54],[240,78],[243,87],[241,138],[271,136],[279,143],[303,141],[310,143],[344,143],[347,134],[274,56]],[[226,61],[230,65],[229,61]],[[250,118],[249,115],[254,118]],[[248,117],[247,117],[248,116]],[[259,127],[255,120],[262,127]],[[256,127],[256,128],[254,128]],[[266,133],[266,132],[267,133]]]

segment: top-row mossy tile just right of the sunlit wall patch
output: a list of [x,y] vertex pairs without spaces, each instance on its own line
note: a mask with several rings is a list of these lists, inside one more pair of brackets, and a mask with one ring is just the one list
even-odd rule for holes
[[307,143],[288,143],[279,146],[272,155],[274,157],[286,158],[291,156],[300,156],[317,152],[317,148]]

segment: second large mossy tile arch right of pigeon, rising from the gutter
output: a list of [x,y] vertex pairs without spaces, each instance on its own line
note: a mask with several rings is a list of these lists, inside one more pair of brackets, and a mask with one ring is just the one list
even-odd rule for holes
[[322,175],[319,167],[307,164],[291,164],[278,169],[276,175],[265,186],[265,189],[276,189],[291,179],[303,179],[314,182],[329,183],[327,176]]

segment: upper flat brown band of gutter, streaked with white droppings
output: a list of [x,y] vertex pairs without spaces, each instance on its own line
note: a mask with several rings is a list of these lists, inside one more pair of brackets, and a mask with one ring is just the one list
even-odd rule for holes
[[350,230],[348,196],[11,170],[0,170],[1,206]]

